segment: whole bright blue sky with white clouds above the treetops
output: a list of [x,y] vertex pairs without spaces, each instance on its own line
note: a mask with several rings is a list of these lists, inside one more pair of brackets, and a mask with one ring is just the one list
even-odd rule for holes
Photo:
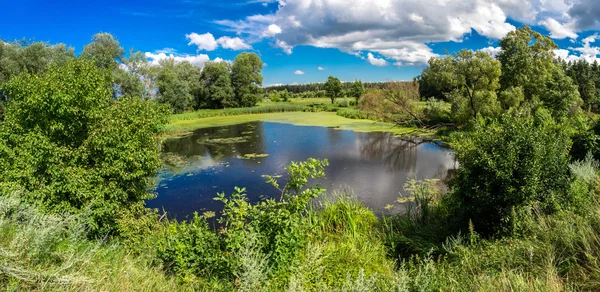
[[253,51],[268,64],[265,85],[329,75],[410,80],[433,56],[462,48],[495,52],[499,38],[524,24],[550,34],[563,58],[591,61],[600,53],[600,1],[593,0],[4,2],[4,40],[66,43],[79,52],[94,33],[109,32],[150,58],[162,52],[199,65]]

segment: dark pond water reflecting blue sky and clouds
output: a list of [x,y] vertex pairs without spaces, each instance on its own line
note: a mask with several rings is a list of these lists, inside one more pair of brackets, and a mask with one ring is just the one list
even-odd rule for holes
[[[267,122],[200,129],[167,141],[164,153],[158,197],[147,206],[180,219],[194,211],[221,210],[222,203],[213,198],[235,186],[246,187],[252,201],[279,197],[262,175],[284,175],[284,182],[290,161],[309,157],[329,159],[323,187],[345,189],[379,214],[396,201],[408,178],[444,178],[455,168],[452,152],[431,142]],[[246,154],[268,156],[245,159]]]

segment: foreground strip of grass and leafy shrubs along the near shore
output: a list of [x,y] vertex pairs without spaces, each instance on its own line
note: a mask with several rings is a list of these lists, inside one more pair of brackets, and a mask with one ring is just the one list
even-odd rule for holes
[[[407,212],[378,219],[356,199],[305,188],[326,161],[288,168],[283,200],[238,189],[212,214],[176,222],[130,218],[120,241],[90,241],[74,215],[47,215],[0,196],[0,285],[9,290],[578,291],[600,287],[597,163],[570,165],[585,210],[512,212],[503,236],[471,223],[450,232],[453,195],[410,181]],[[312,200],[317,198],[316,201]],[[124,219],[128,220],[128,219]]]

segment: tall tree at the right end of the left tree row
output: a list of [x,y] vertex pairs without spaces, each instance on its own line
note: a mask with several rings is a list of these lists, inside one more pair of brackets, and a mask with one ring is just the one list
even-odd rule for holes
[[241,53],[231,66],[231,84],[239,106],[254,106],[260,100],[263,63],[255,53]]

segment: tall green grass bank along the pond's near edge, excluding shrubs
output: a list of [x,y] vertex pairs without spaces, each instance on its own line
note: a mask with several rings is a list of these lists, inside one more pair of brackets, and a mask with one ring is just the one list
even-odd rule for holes
[[[475,232],[394,258],[387,245],[397,226],[431,230],[419,218],[379,222],[361,203],[340,196],[300,218],[307,244],[279,277],[260,243],[247,237],[235,275],[171,274],[146,241],[145,254],[116,242],[88,241],[68,216],[49,216],[0,197],[0,286],[9,291],[579,291],[600,288],[600,207],[530,218],[527,237],[479,239]],[[200,224],[200,223],[199,223]],[[158,233],[187,230],[198,248],[202,225],[164,223]],[[194,231],[196,230],[196,231]],[[197,234],[197,235],[192,235]],[[199,236],[199,237],[194,237]],[[158,237],[155,237],[158,238]],[[418,237],[408,237],[417,240]],[[173,238],[187,244],[183,238]],[[183,240],[183,241],[182,241]],[[396,239],[397,240],[397,239]],[[415,242],[413,242],[414,244]],[[423,243],[423,242],[422,242]],[[154,243],[155,244],[155,243]],[[183,248],[183,246],[182,246]],[[193,248],[193,246],[191,247]],[[181,249],[189,256],[191,249]],[[215,251],[217,252],[217,251]],[[192,266],[190,266],[192,267]]]

